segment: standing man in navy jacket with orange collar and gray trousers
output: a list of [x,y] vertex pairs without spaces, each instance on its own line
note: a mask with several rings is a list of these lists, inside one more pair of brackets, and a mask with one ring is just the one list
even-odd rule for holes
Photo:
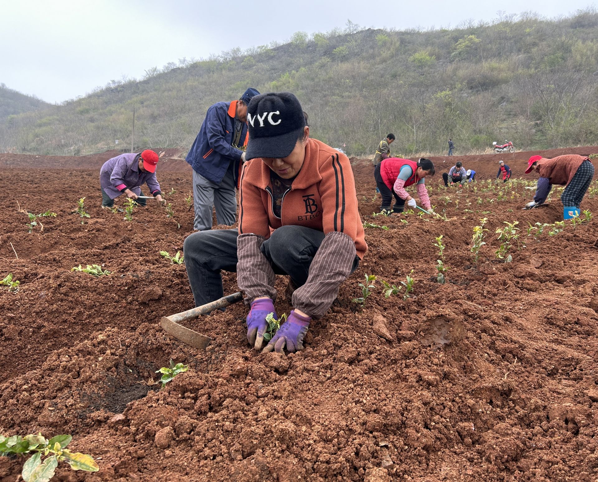
[[249,87],[239,100],[216,102],[206,113],[202,129],[187,154],[193,167],[193,203],[196,231],[212,229],[212,208],[218,224],[236,221],[235,188],[239,166],[245,162],[247,106],[260,93]]

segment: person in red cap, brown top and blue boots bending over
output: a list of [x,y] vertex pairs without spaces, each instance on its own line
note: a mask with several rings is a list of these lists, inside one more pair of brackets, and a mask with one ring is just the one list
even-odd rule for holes
[[565,186],[561,201],[563,202],[563,219],[579,215],[579,205],[584,199],[585,191],[590,187],[594,177],[594,166],[590,158],[584,155],[565,154],[547,159],[541,155],[532,155],[527,161],[526,174],[535,170],[540,174],[536,195],[533,201],[525,205],[526,209],[535,208],[544,203],[553,184]]

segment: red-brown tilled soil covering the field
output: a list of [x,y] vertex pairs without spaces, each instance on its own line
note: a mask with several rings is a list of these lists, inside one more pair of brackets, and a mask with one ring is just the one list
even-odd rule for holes
[[[449,161],[463,160],[483,181],[498,168],[489,157]],[[366,229],[370,251],[310,327],[306,349],[249,350],[239,304],[190,324],[215,338],[202,352],[158,324],[193,304],[185,267],[158,254],[182,249],[191,231],[190,175],[158,170],[163,191],[176,190],[166,199],[180,229],[153,202],[126,222],[100,209],[101,159],[93,170],[81,167],[86,159],[59,158],[68,168],[48,169],[53,158],[0,155],[0,276],[22,282],[16,293],[0,288],[0,433],[72,434],[74,449],[100,465],[95,474],[62,467],[54,480],[598,477],[598,221],[538,241],[525,231],[562,218],[558,191],[547,208],[521,211],[533,196],[521,182],[500,184],[507,199],[498,200],[495,185],[445,190],[437,175],[432,203],[449,221],[382,219],[371,216],[379,206],[371,164],[356,161],[363,220],[389,230]],[[434,158],[439,173],[451,165],[442,159]],[[504,159],[515,176],[523,172],[525,158]],[[44,167],[23,169],[34,165]],[[598,215],[595,194],[593,185],[582,209]],[[83,196],[91,218],[81,225],[69,213]],[[57,217],[29,234],[17,201]],[[475,267],[469,243],[481,217],[489,232]],[[502,263],[495,230],[515,220],[526,247]],[[444,285],[435,282],[440,234]],[[70,271],[92,263],[112,274]],[[386,299],[380,280],[399,285],[411,270],[415,296]],[[358,309],[351,300],[366,273],[378,280]],[[286,280],[277,283],[282,290]],[[224,285],[236,291],[236,275],[224,273]],[[276,308],[290,309],[282,296]],[[160,391],[148,380],[170,358],[190,371]],[[22,465],[0,457],[0,481],[19,480]]]

